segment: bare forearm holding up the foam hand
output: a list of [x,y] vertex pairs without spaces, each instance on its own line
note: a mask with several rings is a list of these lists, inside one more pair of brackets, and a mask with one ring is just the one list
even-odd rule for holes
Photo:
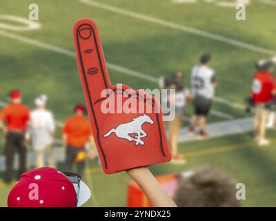
[[126,171],[130,177],[140,186],[152,206],[155,207],[176,207],[177,205],[170,198],[168,193],[160,186],[148,168],[141,167]]

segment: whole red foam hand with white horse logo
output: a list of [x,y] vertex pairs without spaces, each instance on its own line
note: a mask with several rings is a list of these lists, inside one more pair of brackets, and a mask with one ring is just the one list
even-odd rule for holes
[[[110,84],[93,21],[77,21],[74,39],[79,75],[103,171],[117,173],[169,161],[170,148],[157,99],[125,85],[118,88]],[[108,95],[103,96],[103,91]],[[115,111],[103,111],[106,106]]]

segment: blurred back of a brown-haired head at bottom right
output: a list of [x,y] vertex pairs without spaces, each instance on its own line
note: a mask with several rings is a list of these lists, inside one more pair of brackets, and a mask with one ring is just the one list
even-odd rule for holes
[[179,178],[174,195],[180,207],[238,207],[236,184],[213,166],[204,166]]

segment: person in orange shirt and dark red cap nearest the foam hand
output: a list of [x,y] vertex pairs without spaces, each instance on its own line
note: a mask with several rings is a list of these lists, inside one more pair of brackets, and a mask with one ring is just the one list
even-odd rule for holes
[[77,173],[83,175],[86,162],[86,144],[91,140],[90,122],[86,117],[83,105],[75,106],[75,115],[70,117],[63,126],[63,148],[66,153],[66,170],[72,172],[72,166],[77,164]]

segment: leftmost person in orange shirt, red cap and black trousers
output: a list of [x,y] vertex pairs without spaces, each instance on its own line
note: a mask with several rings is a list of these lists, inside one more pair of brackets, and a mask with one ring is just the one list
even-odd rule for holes
[[6,182],[12,181],[14,152],[19,153],[19,177],[26,172],[26,146],[24,145],[30,110],[21,104],[19,90],[10,92],[10,104],[0,113],[0,126],[6,135]]

